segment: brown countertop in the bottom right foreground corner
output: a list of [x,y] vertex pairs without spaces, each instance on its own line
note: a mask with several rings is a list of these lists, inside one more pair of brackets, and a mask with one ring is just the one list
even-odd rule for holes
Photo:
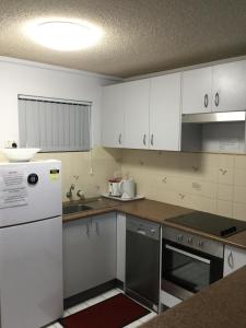
[[245,328],[246,267],[141,325],[141,328]]

